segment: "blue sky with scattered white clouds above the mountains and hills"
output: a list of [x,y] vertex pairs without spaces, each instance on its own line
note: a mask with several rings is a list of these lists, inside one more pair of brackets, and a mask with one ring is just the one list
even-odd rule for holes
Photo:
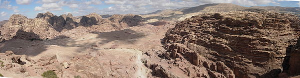
[[54,15],[73,16],[98,14],[146,14],[159,9],[193,7],[207,3],[233,3],[241,6],[299,7],[299,1],[278,0],[0,0],[0,21],[12,14],[27,18],[46,11]]

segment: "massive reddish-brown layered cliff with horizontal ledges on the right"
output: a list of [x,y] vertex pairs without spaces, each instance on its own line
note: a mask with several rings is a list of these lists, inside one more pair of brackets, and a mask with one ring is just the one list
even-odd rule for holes
[[177,23],[164,39],[171,59],[184,58],[226,78],[274,78],[298,27],[292,14],[204,13]]

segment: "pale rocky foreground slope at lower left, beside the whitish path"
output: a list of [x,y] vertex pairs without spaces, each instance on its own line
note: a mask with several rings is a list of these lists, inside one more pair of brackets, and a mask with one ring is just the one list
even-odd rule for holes
[[41,56],[33,60],[26,55],[15,55],[12,51],[0,53],[0,57],[0,73],[13,78],[42,78],[40,75],[47,70],[54,71],[59,78],[131,78],[137,69],[134,63],[136,56],[132,53],[117,54],[111,51],[86,53],[60,62],[58,58],[61,57],[56,55]]

